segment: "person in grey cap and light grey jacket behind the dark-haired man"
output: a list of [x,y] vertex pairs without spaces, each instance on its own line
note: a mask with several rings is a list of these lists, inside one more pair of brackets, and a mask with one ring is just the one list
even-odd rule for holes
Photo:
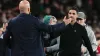
[[[89,37],[89,40],[90,40],[91,45],[92,45],[92,49],[96,55],[96,50],[97,50],[97,46],[98,46],[97,41],[96,41],[96,37],[95,37],[95,34],[94,34],[92,28],[85,23],[86,22],[86,15],[84,14],[84,12],[78,12],[77,22],[80,25],[85,27],[87,34],[88,34],[88,37]],[[90,56],[85,45],[82,45],[82,53],[83,53],[83,56]]]

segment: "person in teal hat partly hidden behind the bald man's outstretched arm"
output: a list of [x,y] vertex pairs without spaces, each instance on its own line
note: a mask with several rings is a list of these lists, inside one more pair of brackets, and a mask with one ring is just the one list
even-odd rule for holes
[[[57,23],[57,19],[54,17],[54,16],[51,16],[51,15],[46,15],[43,19],[43,22],[45,24],[48,24],[48,25],[54,25]],[[54,51],[57,51],[59,49],[59,42],[57,41],[57,44],[54,45],[54,46],[51,46],[51,41],[52,41],[52,36],[50,36],[50,34],[47,34],[45,33],[46,36],[44,36],[44,39],[47,41],[47,42],[44,42],[44,43],[48,43],[49,45],[48,46],[45,46],[45,52],[47,54],[47,56],[51,55],[53,56],[54,54]],[[56,39],[59,39],[59,38],[56,38]],[[46,44],[47,45],[47,44]]]

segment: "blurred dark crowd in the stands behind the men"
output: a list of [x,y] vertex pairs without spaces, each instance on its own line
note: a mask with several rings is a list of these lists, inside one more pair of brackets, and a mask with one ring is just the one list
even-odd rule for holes
[[[19,14],[18,4],[21,0],[0,0],[0,26]],[[90,25],[97,39],[100,39],[100,0],[29,0],[31,14],[42,19],[53,15],[62,20],[71,6],[77,6],[85,12],[87,24]]]

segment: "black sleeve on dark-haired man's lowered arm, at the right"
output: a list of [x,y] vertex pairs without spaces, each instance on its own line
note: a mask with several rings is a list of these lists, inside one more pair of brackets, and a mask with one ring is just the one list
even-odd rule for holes
[[94,56],[94,53],[93,53],[93,49],[92,49],[92,46],[91,46],[91,43],[90,43],[90,40],[89,40],[89,37],[88,37],[88,34],[87,34],[87,31],[85,29],[85,27],[83,27],[83,41],[90,53],[91,56]]

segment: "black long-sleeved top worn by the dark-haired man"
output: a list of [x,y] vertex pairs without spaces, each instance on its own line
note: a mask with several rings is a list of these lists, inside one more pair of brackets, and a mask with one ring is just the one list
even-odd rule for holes
[[83,41],[91,56],[93,56],[93,50],[85,27],[78,23],[74,25],[68,24],[66,27],[66,30],[60,36],[60,56],[81,56],[81,45]]

